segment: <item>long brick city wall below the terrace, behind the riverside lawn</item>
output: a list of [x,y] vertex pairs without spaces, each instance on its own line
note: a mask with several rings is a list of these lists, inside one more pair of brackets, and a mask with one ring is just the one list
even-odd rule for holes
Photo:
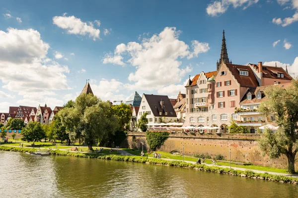
[[[257,139],[259,134],[170,134],[161,151],[178,151],[182,154],[184,145],[184,154],[203,154],[215,156],[222,154],[229,159],[229,149],[231,149],[231,159],[234,161],[250,162],[254,165],[271,166],[277,168],[287,168],[287,158],[282,156],[279,159],[269,159],[263,156],[263,152],[258,147]],[[130,132],[126,140],[126,147],[142,149],[148,148],[146,144],[146,133]],[[123,145],[124,146],[124,145]],[[298,157],[298,155],[297,155]],[[296,163],[298,170],[298,163]]]

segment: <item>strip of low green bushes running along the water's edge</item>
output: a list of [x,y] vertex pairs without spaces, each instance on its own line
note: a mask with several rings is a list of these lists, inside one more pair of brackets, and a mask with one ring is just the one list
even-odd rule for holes
[[[18,151],[18,152],[35,152],[36,148],[18,148],[18,147],[6,147],[0,146],[0,150],[6,151]],[[109,159],[116,161],[131,161],[131,162],[139,162],[139,163],[149,163],[149,164],[161,164],[161,165],[169,165],[176,167],[184,167],[184,168],[193,168],[201,171],[208,172],[216,172],[221,174],[229,174],[247,178],[261,179],[261,180],[269,180],[276,182],[285,182],[291,184],[297,184],[298,179],[294,177],[287,177],[282,175],[272,175],[268,173],[255,173],[252,171],[241,171],[234,170],[230,168],[221,168],[217,166],[206,166],[203,164],[191,164],[182,161],[168,161],[164,159],[152,159],[141,156],[128,156],[128,155],[110,155],[110,154],[98,154],[98,153],[78,153],[78,152],[68,152],[63,150],[49,150],[49,152],[53,155],[62,155],[62,156],[74,156],[74,157],[88,157],[88,158],[98,158],[98,159]]]

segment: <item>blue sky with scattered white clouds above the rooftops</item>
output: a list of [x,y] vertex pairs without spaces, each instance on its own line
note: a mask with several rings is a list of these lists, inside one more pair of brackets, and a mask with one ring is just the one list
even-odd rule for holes
[[298,0],[0,0],[0,112],[54,108],[86,80],[102,100],[176,98],[216,70],[223,30],[234,64],[298,76]]

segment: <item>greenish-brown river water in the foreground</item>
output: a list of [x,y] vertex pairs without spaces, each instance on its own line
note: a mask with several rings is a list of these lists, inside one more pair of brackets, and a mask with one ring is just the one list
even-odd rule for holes
[[297,198],[298,187],[193,169],[0,151],[0,198]]

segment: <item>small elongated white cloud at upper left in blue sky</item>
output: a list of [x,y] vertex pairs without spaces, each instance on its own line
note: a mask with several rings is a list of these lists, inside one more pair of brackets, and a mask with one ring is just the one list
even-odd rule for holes
[[99,38],[100,30],[94,28],[93,23],[89,22],[82,22],[79,18],[75,16],[54,16],[53,17],[53,24],[57,25],[58,27],[67,30],[69,34],[75,35],[89,35],[89,38],[93,38],[95,41]]

